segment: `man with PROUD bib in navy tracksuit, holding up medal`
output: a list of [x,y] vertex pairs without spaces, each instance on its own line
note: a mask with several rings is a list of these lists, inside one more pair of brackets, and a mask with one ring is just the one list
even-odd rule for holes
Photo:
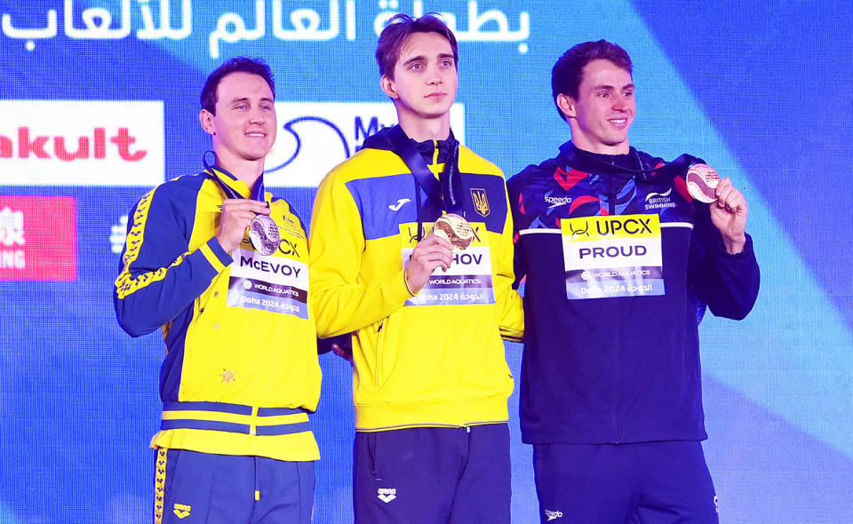
[[571,140],[507,182],[539,518],[718,522],[698,322],[706,307],[742,319],[757,297],[744,195],[696,157],[629,146],[634,82],[618,45],[572,47],[552,87]]

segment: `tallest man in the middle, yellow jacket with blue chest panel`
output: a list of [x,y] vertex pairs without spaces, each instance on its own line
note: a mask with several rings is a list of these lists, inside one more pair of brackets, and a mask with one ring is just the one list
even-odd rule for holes
[[352,333],[355,522],[508,523],[506,184],[450,131],[442,21],[397,15],[376,54],[399,125],[323,179],[310,239],[317,331]]

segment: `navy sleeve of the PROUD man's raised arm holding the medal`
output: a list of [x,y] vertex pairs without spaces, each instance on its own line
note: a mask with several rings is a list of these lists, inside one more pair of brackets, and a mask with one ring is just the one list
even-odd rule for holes
[[714,315],[734,320],[745,318],[758,298],[761,284],[752,237],[746,235],[743,251],[729,254],[703,206],[690,242],[688,282]]

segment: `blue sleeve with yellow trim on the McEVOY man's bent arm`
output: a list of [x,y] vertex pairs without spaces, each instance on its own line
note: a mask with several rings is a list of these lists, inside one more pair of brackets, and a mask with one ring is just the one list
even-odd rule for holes
[[145,195],[128,221],[113,303],[119,325],[132,337],[171,322],[231,263],[216,237],[188,250],[195,209],[186,206],[195,200],[171,198],[171,189]]

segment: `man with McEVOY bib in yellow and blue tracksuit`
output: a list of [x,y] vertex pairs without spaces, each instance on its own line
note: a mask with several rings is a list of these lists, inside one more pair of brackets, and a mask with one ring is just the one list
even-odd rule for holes
[[320,368],[305,230],[264,188],[269,67],[228,60],[201,101],[213,163],[137,203],[116,280],[119,323],[167,350],[155,522],[309,523]]

